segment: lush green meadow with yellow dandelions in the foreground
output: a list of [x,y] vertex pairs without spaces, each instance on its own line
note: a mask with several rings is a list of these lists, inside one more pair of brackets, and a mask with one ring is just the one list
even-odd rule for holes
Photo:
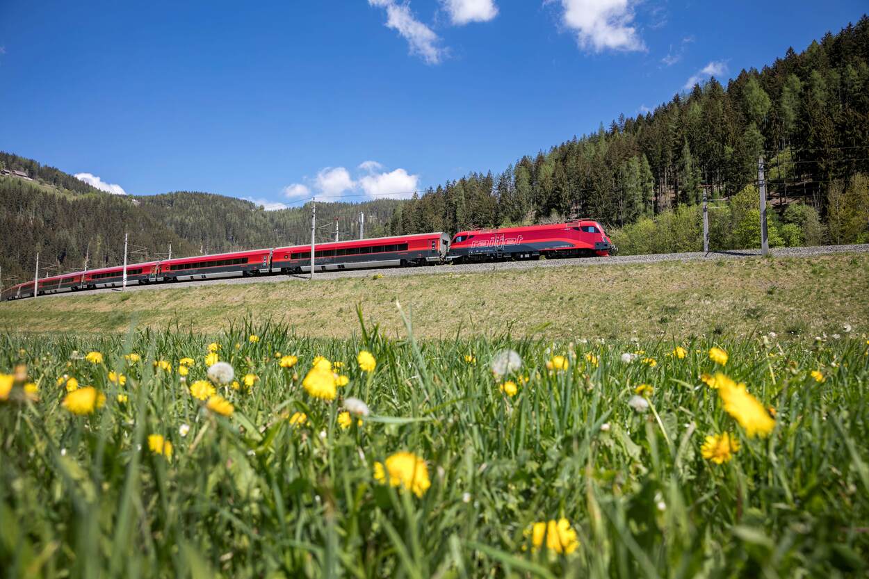
[[357,328],[0,336],[3,576],[866,576],[866,336]]

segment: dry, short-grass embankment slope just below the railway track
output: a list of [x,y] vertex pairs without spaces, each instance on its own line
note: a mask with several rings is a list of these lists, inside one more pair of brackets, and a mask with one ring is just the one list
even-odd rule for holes
[[456,333],[548,339],[632,336],[813,338],[845,324],[869,330],[869,255],[747,258],[504,270],[485,274],[344,278],[106,292],[0,304],[0,328],[35,332],[225,329],[243,319],[301,334],[348,337],[357,304],[389,335],[399,299],[417,336]]

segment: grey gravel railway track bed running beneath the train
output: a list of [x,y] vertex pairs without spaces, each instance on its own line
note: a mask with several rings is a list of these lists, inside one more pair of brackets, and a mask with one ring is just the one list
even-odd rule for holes
[[[853,244],[853,245],[824,245],[817,247],[793,247],[779,248],[770,250],[773,256],[777,257],[803,257],[803,256],[822,256],[833,253],[849,253],[849,252],[869,252],[869,243]],[[465,263],[461,265],[438,265],[428,267],[413,267],[413,268],[380,268],[376,270],[342,270],[342,271],[327,271],[315,274],[315,282],[328,281],[341,277],[368,277],[375,274],[383,276],[421,276],[421,275],[438,275],[438,274],[469,274],[480,273],[496,270],[528,270],[533,268],[552,268],[564,266],[587,266],[587,265],[628,265],[631,263],[658,263],[667,261],[695,261],[695,260],[715,260],[715,259],[745,259],[750,257],[759,257],[760,250],[729,250],[729,251],[713,251],[708,254],[702,251],[694,251],[687,253],[663,253],[647,256],[613,256],[613,257],[576,257],[570,259],[547,259],[540,261],[521,261],[521,262],[494,262],[494,263]],[[173,282],[173,283],[158,283],[155,285],[133,285],[128,286],[126,291],[143,291],[149,289],[177,289],[187,287],[200,287],[204,285],[213,285],[216,283],[275,283],[275,282],[307,282],[308,275],[264,275],[255,277],[227,277],[222,279],[202,280],[196,282]],[[78,291],[75,293],[63,293],[50,296],[39,296],[43,298],[58,298],[64,296],[88,296],[91,294],[105,294],[110,291],[119,291],[119,289],[89,289]],[[25,298],[30,299],[30,298]]]

